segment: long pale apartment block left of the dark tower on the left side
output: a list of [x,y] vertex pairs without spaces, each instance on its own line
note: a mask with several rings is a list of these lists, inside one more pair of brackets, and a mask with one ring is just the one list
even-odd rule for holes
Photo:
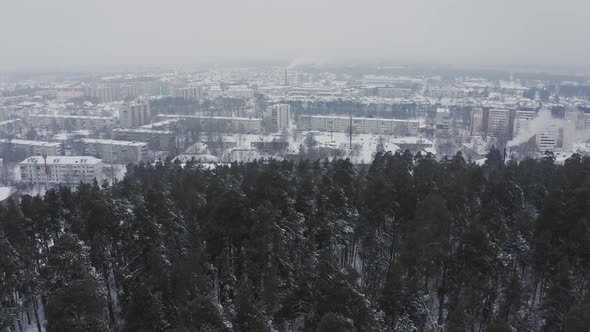
[[29,115],[29,125],[47,130],[110,130],[115,118],[106,116],[35,114]]

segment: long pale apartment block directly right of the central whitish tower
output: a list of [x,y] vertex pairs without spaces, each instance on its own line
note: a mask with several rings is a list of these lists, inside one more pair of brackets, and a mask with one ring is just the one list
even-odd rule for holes
[[384,118],[350,118],[346,116],[301,115],[298,128],[304,131],[352,132],[356,134],[381,134],[416,136],[420,122]]

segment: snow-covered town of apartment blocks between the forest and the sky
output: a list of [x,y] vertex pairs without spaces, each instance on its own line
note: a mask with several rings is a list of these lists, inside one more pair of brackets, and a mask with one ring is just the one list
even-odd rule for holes
[[[533,73],[318,67],[0,81],[0,185],[121,179],[126,165],[349,158],[409,150],[482,163],[590,154],[590,81]],[[8,195],[13,189],[4,189]]]

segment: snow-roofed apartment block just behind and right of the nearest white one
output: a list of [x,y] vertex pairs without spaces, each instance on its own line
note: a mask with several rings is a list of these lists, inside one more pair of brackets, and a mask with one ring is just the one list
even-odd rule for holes
[[148,159],[148,144],[145,142],[84,138],[75,145],[78,153],[107,163],[138,164]]

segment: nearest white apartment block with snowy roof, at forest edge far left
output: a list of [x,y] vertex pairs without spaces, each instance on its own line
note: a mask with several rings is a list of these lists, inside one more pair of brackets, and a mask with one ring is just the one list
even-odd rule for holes
[[102,181],[102,161],[88,156],[29,157],[19,163],[22,182],[70,185]]

